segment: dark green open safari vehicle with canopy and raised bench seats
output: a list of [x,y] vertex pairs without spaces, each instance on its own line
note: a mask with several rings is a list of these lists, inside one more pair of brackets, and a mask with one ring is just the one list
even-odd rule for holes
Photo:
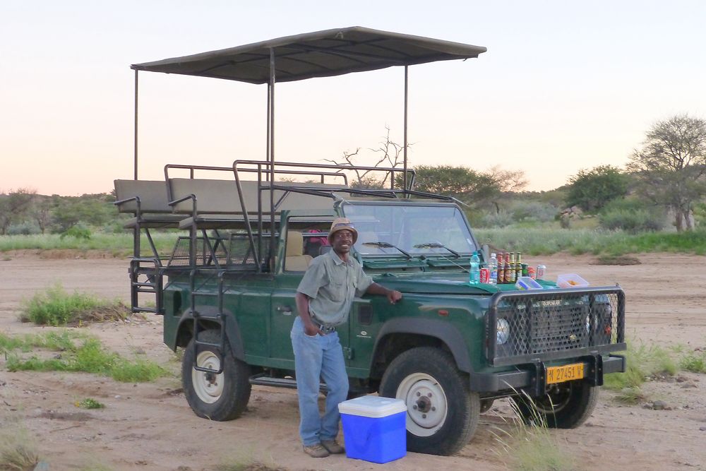
[[[275,160],[275,83],[404,66],[407,90],[407,66],[485,50],[345,28],[132,66],[136,84],[138,71],[268,84],[267,160],[166,165],[164,181],[145,181],[136,153],[135,178],[115,182],[116,205],[133,215],[133,310],[163,315],[164,342],[185,349],[184,393],[196,415],[239,417],[253,384],[296,387],[294,294],[312,258],[330,249],[330,223],[344,216],[359,232],[352,255],[404,294],[394,305],[355,299],[337,328],[350,393],[405,400],[410,451],[460,450],[496,398],[516,400],[528,421],[522,398],[532,398],[550,427],[590,416],[604,375],[626,367],[614,354],[626,346],[621,288],[469,284],[480,247],[467,218],[453,198],[414,191],[406,155],[402,168],[357,167],[377,172],[384,189],[349,184],[352,167]],[[406,136],[405,127],[405,150]],[[168,254],[150,235],[162,227],[181,231]]]

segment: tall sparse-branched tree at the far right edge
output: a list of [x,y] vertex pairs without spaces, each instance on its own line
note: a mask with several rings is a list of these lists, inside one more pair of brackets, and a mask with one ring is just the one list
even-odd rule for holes
[[647,131],[628,169],[640,179],[640,193],[674,211],[677,231],[692,229],[693,204],[706,194],[706,121],[678,114]]

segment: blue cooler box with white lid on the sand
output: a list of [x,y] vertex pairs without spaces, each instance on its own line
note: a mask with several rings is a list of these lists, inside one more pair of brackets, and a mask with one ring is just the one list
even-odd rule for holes
[[364,395],[338,405],[346,456],[388,463],[407,454],[407,405],[401,399]]

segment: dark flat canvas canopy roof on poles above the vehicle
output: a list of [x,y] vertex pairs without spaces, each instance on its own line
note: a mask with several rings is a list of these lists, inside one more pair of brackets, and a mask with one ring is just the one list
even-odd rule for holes
[[471,59],[487,49],[460,42],[354,26],[133,64],[131,68],[138,71],[268,83],[270,50],[277,57],[277,82],[290,82],[391,66]]

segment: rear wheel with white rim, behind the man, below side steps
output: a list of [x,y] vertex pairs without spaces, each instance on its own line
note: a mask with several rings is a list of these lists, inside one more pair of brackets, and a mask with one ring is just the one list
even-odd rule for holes
[[[215,329],[204,330],[200,337],[203,342],[220,342],[220,332]],[[239,417],[248,405],[252,388],[249,366],[233,356],[227,342],[223,361],[221,374],[196,371],[194,364],[217,370],[220,359],[212,347],[200,347],[194,358],[193,338],[186,347],[181,362],[181,383],[186,402],[198,417],[219,422],[232,420]]]

